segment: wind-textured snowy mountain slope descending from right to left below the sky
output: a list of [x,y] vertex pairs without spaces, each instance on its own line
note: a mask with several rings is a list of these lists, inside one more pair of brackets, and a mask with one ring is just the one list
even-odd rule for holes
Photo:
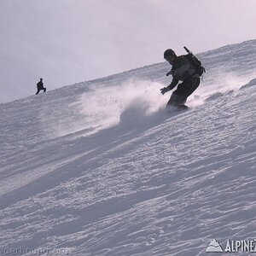
[[1,104],[0,254],[211,255],[212,239],[253,239],[256,40],[199,56],[183,113],[164,110],[166,63]]

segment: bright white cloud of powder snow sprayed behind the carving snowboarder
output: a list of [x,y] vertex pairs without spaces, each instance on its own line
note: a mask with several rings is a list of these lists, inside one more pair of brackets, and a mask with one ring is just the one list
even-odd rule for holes
[[119,124],[129,109],[136,119],[157,112],[165,104],[159,92],[161,86],[143,80],[101,86],[84,93],[73,106],[79,110],[84,129],[95,132]]

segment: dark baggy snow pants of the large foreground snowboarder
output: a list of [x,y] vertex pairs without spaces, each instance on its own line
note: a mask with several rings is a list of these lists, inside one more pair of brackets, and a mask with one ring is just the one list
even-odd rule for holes
[[200,78],[189,78],[183,83],[177,85],[177,90],[172,92],[172,96],[167,102],[167,106],[184,105],[187,98],[197,89],[200,84]]

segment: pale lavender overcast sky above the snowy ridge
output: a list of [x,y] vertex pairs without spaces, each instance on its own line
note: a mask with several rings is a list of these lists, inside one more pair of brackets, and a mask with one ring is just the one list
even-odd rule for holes
[[0,102],[256,38],[255,0],[0,0]]

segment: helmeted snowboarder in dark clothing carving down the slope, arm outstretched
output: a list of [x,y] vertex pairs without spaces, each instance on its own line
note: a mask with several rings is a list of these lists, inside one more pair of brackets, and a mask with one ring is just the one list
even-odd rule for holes
[[161,94],[164,95],[167,91],[174,89],[179,81],[182,81],[181,84],[177,85],[177,90],[172,92],[172,96],[167,102],[166,107],[188,108],[187,106],[184,106],[184,104],[187,101],[187,98],[199,86],[201,73],[198,72],[195,65],[189,61],[188,55],[177,56],[174,50],[166,49],[164,58],[170,65],[172,65],[171,71],[166,73],[166,76],[172,74],[173,79],[171,84],[160,89]]

